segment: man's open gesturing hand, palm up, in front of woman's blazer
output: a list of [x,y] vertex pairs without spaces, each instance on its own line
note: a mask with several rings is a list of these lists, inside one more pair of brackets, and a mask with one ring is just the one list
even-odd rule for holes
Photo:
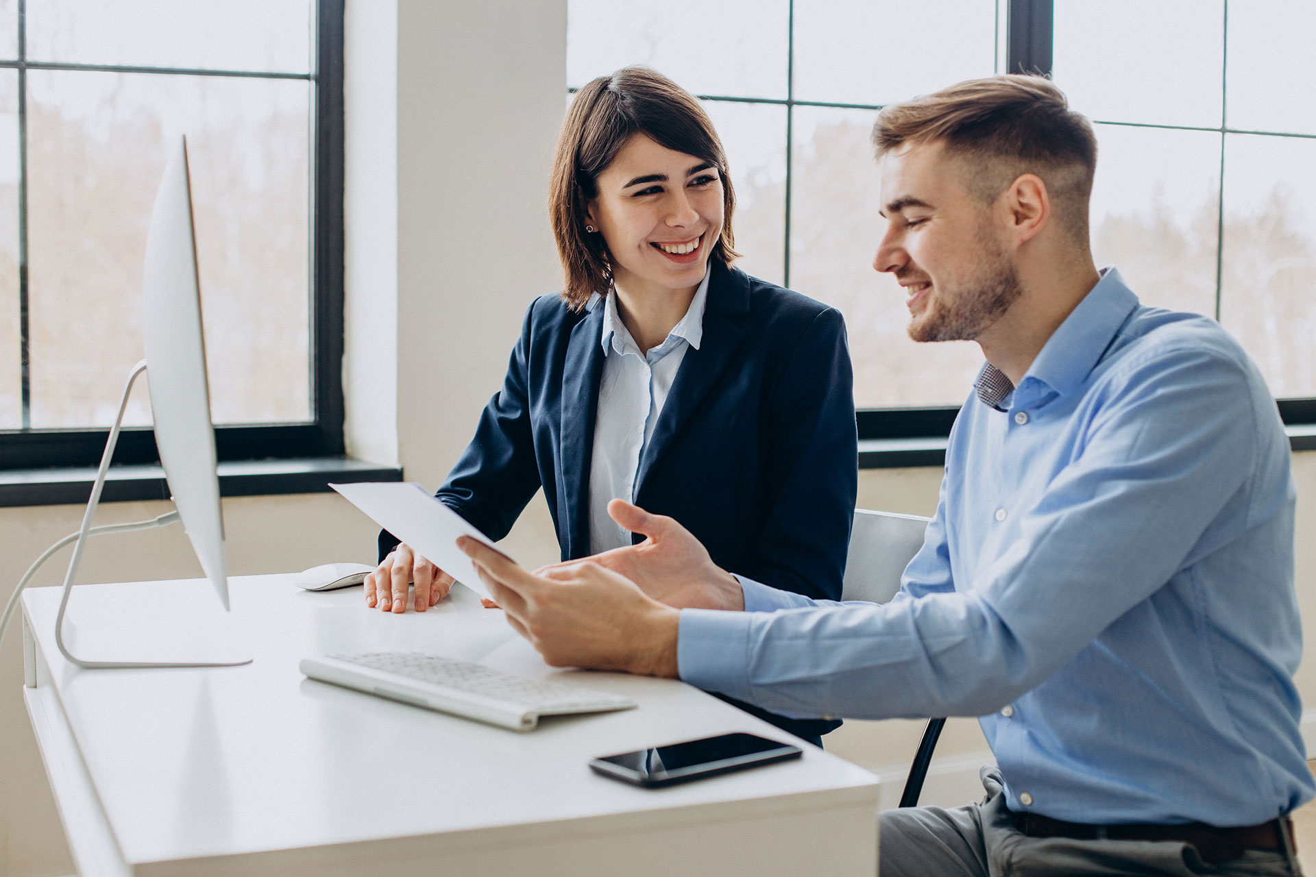
[[[708,556],[708,550],[674,518],[649,514],[637,505],[613,500],[608,504],[612,519],[646,539],[637,546],[613,548],[590,557],[594,563],[620,573],[654,600],[676,609],[745,609],[745,592],[733,575]],[[557,579],[558,569],[574,568],[579,561],[542,567],[536,575]]]

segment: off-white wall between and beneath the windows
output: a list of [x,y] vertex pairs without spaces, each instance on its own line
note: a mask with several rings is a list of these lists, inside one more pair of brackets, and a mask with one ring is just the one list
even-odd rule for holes
[[[526,304],[558,284],[545,191],[565,104],[565,34],[566,0],[347,4],[347,440],[430,486],[496,389]],[[1294,463],[1300,600],[1316,618],[1316,454]],[[937,469],[863,472],[859,504],[930,514],[938,480]],[[166,508],[109,504],[97,521]],[[0,597],[80,514],[0,509]],[[233,498],[224,514],[234,575],[374,556],[375,527],[333,494]],[[509,540],[524,563],[555,559],[541,498]],[[62,560],[38,584],[58,584]],[[93,543],[80,581],[195,575],[191,548],[170,529]],[[67,874],[74,865],[21,702],[17,632],[0,651],[0,874]],[[1316,706],[1312,661],[1299,684]],[[899,780],[919,728],[849,722],[828,747]],[[982,746],[971,722],[948,727],[938,751],[950,769],[942,786],[929,782],[929,799],[966,798],[957,768]]]

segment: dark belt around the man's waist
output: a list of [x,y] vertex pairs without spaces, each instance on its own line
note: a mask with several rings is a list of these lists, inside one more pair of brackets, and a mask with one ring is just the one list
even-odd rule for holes
[[1248,849],[1279,852],[1284,849],[1284,831],[1292,838],[1292,822],[1288,817],[1271,819],[1259,826],[1217,828],[1204,822],[1188,822],[1178,826],[1161,824],[1115,824],[1092,826],[1080,822],[1063,822],[1034,813],[1015,814],[1019,830],[1029,838],[1073,838],[1075,840],[1177,840],[1192,844],[1204,863],[1219,864],[1233,861]]

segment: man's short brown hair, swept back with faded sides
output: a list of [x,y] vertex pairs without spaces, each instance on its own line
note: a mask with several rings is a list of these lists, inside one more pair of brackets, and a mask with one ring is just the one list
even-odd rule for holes
[[934,141],[963,159],[969,191],[984,204],[1020,175],[1040,176],[1061,227],[1087,246],[1096,135],[1049,79],[1020,74],[970,79],[888,104],[873,126],[878,158]]

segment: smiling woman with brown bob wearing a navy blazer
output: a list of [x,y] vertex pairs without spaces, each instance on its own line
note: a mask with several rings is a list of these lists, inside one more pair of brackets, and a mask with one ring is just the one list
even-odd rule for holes
[[[542,486],[563,560],[632,544],[607,513],[620,497],[676,518],[725,568],[840,598],[857,486],[845,326],[730,267],[736,199],[699,101],[640,67],[595,79],[549,197],[565,288],[530,305],[436,496],[501,539]],[[379,552],[370,606],[405,611],[415,582],[422,611],[451,586],[387,533]]]

